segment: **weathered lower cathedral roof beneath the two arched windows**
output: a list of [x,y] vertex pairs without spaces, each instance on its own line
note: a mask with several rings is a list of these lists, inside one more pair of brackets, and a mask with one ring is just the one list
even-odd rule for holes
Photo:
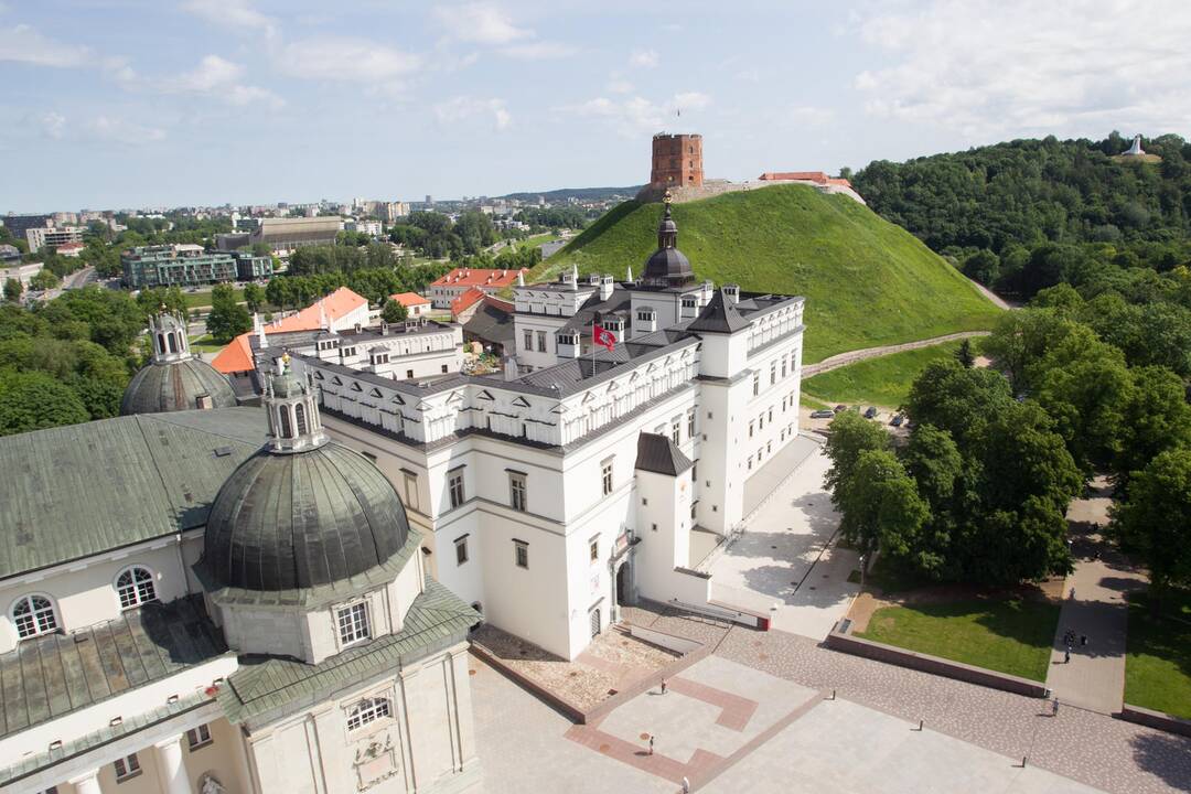
[[145,604],[73,634],[0,655],[0,737],[172,676],[227,652],[202,596]]

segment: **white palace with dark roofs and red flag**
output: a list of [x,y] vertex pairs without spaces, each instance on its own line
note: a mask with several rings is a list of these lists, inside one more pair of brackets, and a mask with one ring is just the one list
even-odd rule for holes
[[798,434],[803,299],[698,282],[676,238],[667,205],[640,279],[513,287],[500,375],[407,380],[330,332],[255,340],[257,371],[288,350],[326,431],[401,495],[428,574],[574,658],[621,604],[706,605],[692,546],[740,526],[746,481]]

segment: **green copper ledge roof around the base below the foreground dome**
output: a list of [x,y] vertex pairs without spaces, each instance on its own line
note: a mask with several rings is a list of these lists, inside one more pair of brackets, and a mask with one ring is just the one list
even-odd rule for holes
[[480,615],[432,579],[405,614],[401,631],[350,648],[318,664],[292,658],[242,656],[239,669],[219,692],[219,704],[235,724],[276,719],[333,693],[395,673],[404,665],[463,639]]

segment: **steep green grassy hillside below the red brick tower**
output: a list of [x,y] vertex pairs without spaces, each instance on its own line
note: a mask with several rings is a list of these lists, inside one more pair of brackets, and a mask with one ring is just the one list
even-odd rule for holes
[[[626,201],[535,269],[640,275],[660,204]],[[674,205],[679,248],[700,279],[806,296],[806,362],[846,350],[991,329],[998,310],[954,268],[852,199],[799,185]]]

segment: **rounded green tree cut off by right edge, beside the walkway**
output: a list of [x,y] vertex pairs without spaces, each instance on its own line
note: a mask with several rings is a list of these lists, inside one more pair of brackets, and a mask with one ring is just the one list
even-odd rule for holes
[[1137,471],[1112,509],[1111,527],[1149,565],[1159,598],[1170,587],[1191,586],[1191,449],[1166,450]]

